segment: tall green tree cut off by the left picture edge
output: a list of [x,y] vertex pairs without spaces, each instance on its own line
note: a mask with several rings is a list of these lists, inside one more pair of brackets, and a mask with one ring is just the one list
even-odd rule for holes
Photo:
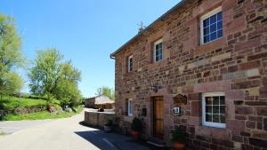
[[0,14],[0,94],[20,91],[22,80],[12,69],[21,67],[23,63],[20,36],[14,19]]

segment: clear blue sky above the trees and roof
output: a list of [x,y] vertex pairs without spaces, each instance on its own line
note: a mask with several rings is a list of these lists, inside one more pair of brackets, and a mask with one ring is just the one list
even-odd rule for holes
[[137,34],[137,24],[150,25],[178,2],[2,0],[0,13],[15,18],[24,56],[33,60],[36,50],[57,48],[81,70],[79,89],[91,97],[102,85],[114,88],[115,61],[109,54]]

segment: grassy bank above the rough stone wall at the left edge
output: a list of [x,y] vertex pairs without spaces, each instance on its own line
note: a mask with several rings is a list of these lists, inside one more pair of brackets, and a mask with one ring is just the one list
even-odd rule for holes
[[25,99],[12,96],[3,96],[0,99],[0,108],[4,110],[14,110],[16,107],[46,106],[47,101],[44,99]]

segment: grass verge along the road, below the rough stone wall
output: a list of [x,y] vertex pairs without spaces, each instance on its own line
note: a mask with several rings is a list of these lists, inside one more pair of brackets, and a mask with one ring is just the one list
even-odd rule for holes
[[38,113],[31,114],[7,114],[2,120],[3,121],[21,121],[21,120],[44,120],[44,119],[57,119],[57,118],[67,118],[74,114],[79,114],[82,112],[82,107],[77,107],[77,112],[62,113],[62,114],[50,114],[49,111],[42,111]]

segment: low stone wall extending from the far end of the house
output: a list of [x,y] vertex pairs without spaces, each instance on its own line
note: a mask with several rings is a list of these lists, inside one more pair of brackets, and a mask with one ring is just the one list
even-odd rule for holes
[[116,123],[116,116],[114,113],[85,111],[85,123],[88,125],[102,128],[109,119]]

